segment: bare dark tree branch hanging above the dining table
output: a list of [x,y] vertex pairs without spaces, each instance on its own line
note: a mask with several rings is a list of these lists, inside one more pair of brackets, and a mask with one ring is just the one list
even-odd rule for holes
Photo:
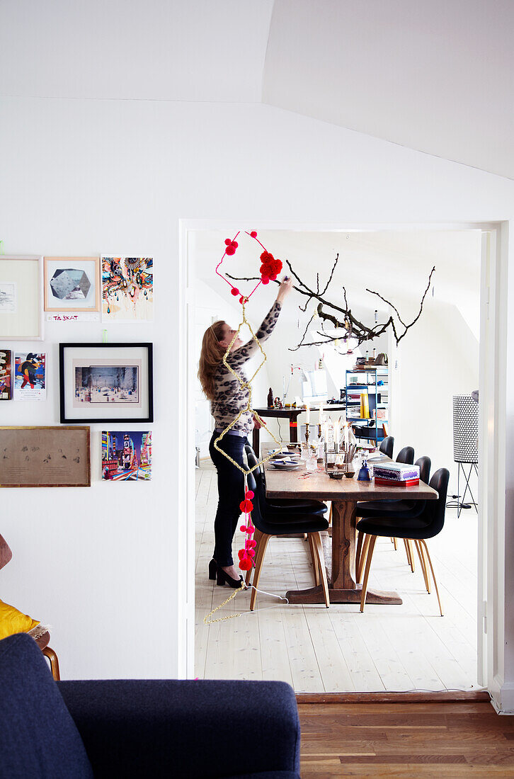
[[[299,292],[300,294],[305,295],[305,297],[307,298],[307,301],[305,302],[305,306],[299,306],[300,310],[302,312],[306,312],[308,305],[312,301],[318,302],[318,305],[316,306],[314,313],[312,314],[312,316],[308,320],[307,325],[305,326],[305,330],[301,337],[300,343],[297,344],[296,347],[290,348],[290,351],[297,351],[301,347],[322,346],[323,344],[330,344],[330,343],[334,343],[335,346],[338,346],[341,339],[346,344],[347,340],[350,338],[357,342],[357,346],[360,346],[361,344],[364,344],[364,341],[374,340],[375,338],[380,337],[383,333],[386,333],[388,327],[390,327],[391,330],[393,331],[393,336],[396,340],[396,346],[397,346],[398,344],[400,344],[400,341],[407,335],[410,328],[414,326],[417,323],[417,320],[420,318],[423,312],[423,305],[424,305],[425,298],[427,297],[428,290],[431,287],[432,275],[433,273],[435,273],[435,266],[434,266],[428,276],[428,284],[421,297],[419,311],[417,312],[417,315],[410,323],[406,323],[403,321],[400,312],[398,311],[398,308],[396,308],[396,305],[394,305],[391,301],[387,300],[387,298],[384,298],[384,296],[379,292],[366,288],[366,292],[369,292],[370,294],[375,295],[377,298],[380,298],[380,300],[382,300],[384,303],[386,303],[386,305],[389,305],[389,307],[393,309],[393,313],[389,315],[389,319],[386,319],[386,321],[382,323],[379,323],[377,321],[378,319],[377,312],[375,312],[375,324],[373,326],[368,326],[363,322],[361,322],[359,319],[357,319],[354,313],[352,312],[352,309],[347,299],[346,287],[342,287],[343,299],[340,301],[340,305],[334,302],[333,299],[329,300],[328,298],[326,298],[326,293],[328,292],[329,286],[333,281],[333,275],[336,270],[337,264],[339,263],[339,252],[336,254],[336,259],[334,260],[332,270],[329,273],[328,280],[326,281],[325,286],[321,290],[319,288],[319,273],[316,273],[316,288],[312,289],[311,287],[308,286],[308,284],[305,284],[305,281],[301,280],[301,278],[295,272],[293,266],[291,265],[288,259],[286,260],[286,263],[291,272],[291,275],[297,281],[297,284],[293,285],[293,289]],[[255,280],[252,277],[231,276],[230,273],[227,273],[227,276],[231,279],[238,280],[238,281]],[[330,297],[332,297],[332,295]],[[318,330],[317,334],[323,340],[306,341],[305,339],[307,338],[308,330],[314,319],[319,319],[321,322],[321,330]],[[334,326],[336,330],[335,335],[326,332],[325,330],[326,323],[331,323]],[[339,330],[341,331],[340,333],[338,332]]]

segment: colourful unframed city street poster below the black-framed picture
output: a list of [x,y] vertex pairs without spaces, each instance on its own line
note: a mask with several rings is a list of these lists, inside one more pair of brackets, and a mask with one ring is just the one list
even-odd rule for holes
[[102,432],[102,478],[106,481],[149,481],[152,432]]

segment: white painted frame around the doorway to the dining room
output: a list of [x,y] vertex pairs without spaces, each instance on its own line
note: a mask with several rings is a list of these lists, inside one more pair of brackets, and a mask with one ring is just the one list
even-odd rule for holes
[[[305,224],[248,220],[252,229],[301,232],[481,230],[481,330],[478,519],[478,679],[502,710],[505,634],[505,440],[506,340],[509,223]],[[194,677],[195,640],[195,422],[192,387],[195,268],[188,253],[190,231],[220,230],[227,235],[241,221],[180,220],[179,223],[179,437],[185,456],[179,459],[178,512],[185,517],[178,534],[178,675]],[[213,262],[214,259],[213,258]],[[512,689],[514,710],[514,689]],[[505,695],[503,696],[505,710]]]

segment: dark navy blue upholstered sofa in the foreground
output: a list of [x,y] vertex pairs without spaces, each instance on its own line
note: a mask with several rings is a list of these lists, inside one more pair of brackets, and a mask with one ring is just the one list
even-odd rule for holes
[[0,641],[1,779],[299,779],[284,682],[54,682],[24,633]]

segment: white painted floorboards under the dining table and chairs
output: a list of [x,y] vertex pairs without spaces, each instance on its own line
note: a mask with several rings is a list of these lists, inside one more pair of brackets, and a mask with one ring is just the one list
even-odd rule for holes
[[[477,688],[477,515],[446,509],[442,533],[428,541],[441,593],[424,588],[419,563],[410,572],[403,544],[377,541],[370,587],[397,590],[401,606],[288,606],[259,593],[238,594],[214,617],[241,616],[205,626],[203,618],[231,593],[209,581],[217,508],[216,472],[196,471],[195,676],[200,679],[279,679],[297,693]],[[241,534],[236,534],[237,559]],[[400,542],[401,543],[401,542]],[[312,587],[308,544],[269,541],[259,589],[283,595]],[[433,588],[432,588],[433,589]]]

